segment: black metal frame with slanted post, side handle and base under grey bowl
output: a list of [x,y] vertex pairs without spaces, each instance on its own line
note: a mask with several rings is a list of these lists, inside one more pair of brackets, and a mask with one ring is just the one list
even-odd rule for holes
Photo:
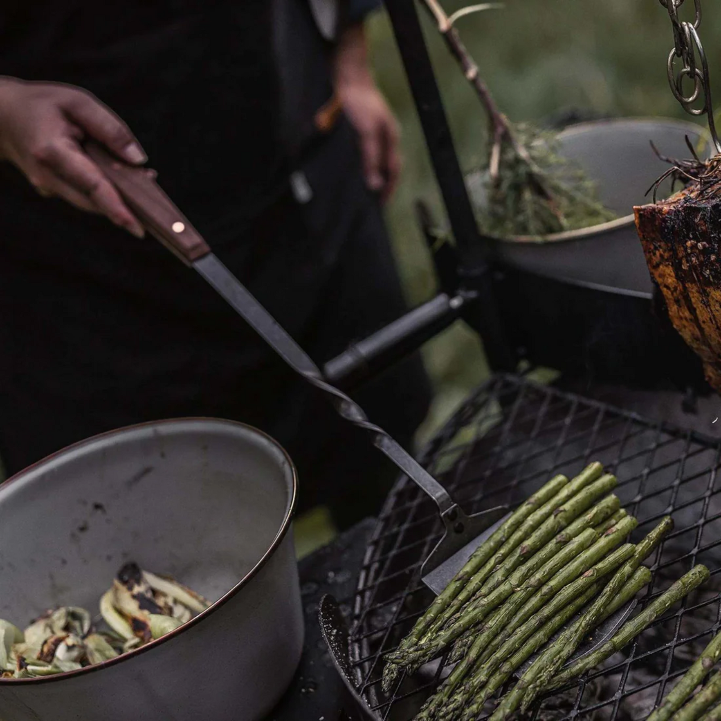
[[[707,394],[701,364],[668,322],[660,294],[649,301],[554,278],[552,267],[531,273],[500,261],[493,242],[479,233],[415,1],[388,0],[386,9],[453,244],[420,213],[440,293],[326,363],[327,379],[350,389],[460,318],[482,337],[493,371],[515,372],[519,361],[527,361],[585,387],[614,383],[676,389],[687,397]],[[589,254],[578,262],[596,261]]]

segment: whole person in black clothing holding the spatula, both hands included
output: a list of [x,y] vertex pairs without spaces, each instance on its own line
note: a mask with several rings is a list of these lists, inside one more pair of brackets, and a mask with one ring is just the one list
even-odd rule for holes
[[[361,431],[160,244],[84,153],[149,166],[216,254],[323,363],[406,310],[381,203],[398,131],[363,0],[6,0],[0,8],[0,456],[14,473],[167,417],[265,430],[301,507],[340,527],[394,476]],[[110,222],[109,222],[110,221]],[[406,446],[420,359],[355,394]]]

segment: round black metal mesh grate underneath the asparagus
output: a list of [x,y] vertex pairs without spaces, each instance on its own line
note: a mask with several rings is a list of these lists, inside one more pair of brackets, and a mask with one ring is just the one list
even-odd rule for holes
[[[542,699],[537,719],[645,718],[666,685],[692,663],[721,624],[721,441],[670,428],[517,376],[482,386],[429,444],[423,462],[469,512],[516,505],[552,474],[569,477],[601,461],[619,479],[640,539],[671,513],[676,523],[647,565],[647,601],[696,563],[712,576],[632,645],[578,684]],[[443,661],[381,691],[383,655],[398,645],[433,596],[420,565],[442,533],[435,507],[401,479],[366,552],[353,609],[350,657],[358,688],[377,717],[407,721],[433,692]]]

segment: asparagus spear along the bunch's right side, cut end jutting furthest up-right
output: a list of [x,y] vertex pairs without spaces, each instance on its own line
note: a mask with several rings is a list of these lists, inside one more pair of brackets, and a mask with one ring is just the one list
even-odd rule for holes
[[[580,640],[598,624],[598,618],[603,614],[606,606],[609,605],[611,598],[616,596],[616,593],[624,587],[624,584],[627,583],[627,580],[629,580],[642,560],[653,551],[663,538],[663,535],[671,530],[671,526],[673,526],[673,523],[671,518],[667,516],[637,545],[633,556],[616,571],[606,588],[601,592],[601,596],[598,596],[590,609],[575,624],[566,629],[544,653],[541,653],[531,664],[531,667],[527,669],[526,673],[521,676],[518,684],[505,696],[503,703],[497,709],[497,713],[500,712],[500,709],[503,709],[505,715],[499,715],[497,718],[507,717],[516,712],[519,706],[522,707],[522,711],[528,708],[528,705],[543,690],[543,686],[539,683],[541,678],[544,679],[543,683],[547,684],[547,679],[557,671],[562,663],[565,663],[565,660],[578,647]],[[550,673],[549,670],[551,670]],[[496,718],[494,718],[494,721],[496,721]]]

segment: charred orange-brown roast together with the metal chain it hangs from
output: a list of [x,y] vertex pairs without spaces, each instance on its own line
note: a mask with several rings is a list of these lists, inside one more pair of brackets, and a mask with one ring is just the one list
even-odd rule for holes
[[694,0],[685,20],[680,16],[684,0],[659,1],[673,27],[667,61],[671,92],[686,112],[707,116],[715,155],[699,159],[689,143],[693,159],[668,172],[685,180],[686,187],[661,203],[634,208],[636,228],[673,327],[699,355],[707,381],[721,393],[721,140],[699,37],[701,0]]

